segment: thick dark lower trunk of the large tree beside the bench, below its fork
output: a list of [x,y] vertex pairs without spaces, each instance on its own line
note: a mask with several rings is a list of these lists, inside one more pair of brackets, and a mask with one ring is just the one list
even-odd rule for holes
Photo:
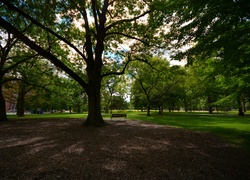
[[[98,79],[98,78],[97,78]],[[105,122],[101,114],[101,80],[89,84],[88,117],[83,126],[103,126]]]

